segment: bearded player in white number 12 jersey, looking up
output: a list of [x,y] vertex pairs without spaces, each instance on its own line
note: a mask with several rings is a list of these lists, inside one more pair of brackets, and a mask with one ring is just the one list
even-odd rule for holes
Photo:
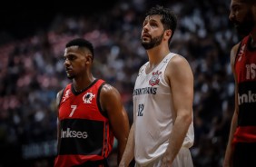
[[133,125],[119,167],[192,167],[193,74],[182,55],[170,51],[177,25],[168,8],[153,7],[141,41],[149,61],[133,90]]

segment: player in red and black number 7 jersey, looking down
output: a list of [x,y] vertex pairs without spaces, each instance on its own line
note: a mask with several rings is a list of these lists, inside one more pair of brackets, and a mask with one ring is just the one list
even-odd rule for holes
[[57,93],[58,152],[54,167],[105,167],[116,138],[120,162],[129,135],[120,93],[91,73],[94,46],[83,38],[66,44],[64,68],[72,83]]

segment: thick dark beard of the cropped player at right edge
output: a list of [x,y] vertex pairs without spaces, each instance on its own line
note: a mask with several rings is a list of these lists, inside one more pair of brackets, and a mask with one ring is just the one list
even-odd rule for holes
[[253,21],[252,11],[250,10],[247,13],[247,15],[244,16],[244,19],[241,22],[234,20],[233,24],[235,25],[235,28],[239,34],[241,35],[250,34],[253,29],[253,26],[255,25]]

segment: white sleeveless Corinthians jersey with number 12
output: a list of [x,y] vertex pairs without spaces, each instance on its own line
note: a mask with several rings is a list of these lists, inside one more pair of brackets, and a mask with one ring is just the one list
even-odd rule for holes
[[[175,54],[166,55],[150,74],[145,73],[146,64],[137,76],[133,90],[133,123],[135,137],[134,158],[138,166],[159,160],[167,149],[173,125],[172,93],[164,79],[168,62]],[[182,144],[193,144],[193,124]]]

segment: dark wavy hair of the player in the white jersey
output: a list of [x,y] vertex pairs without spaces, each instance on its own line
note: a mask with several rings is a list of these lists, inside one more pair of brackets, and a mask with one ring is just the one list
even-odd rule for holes
[[[169,8],[164,8],[162,5],[153,6],[147,13],[148,15],[161,15],[161,22],[165,30],[171,29],[172,35],[174,34],[177,27],[177,16]],[[169,43],[172,39],[169,39]]]

